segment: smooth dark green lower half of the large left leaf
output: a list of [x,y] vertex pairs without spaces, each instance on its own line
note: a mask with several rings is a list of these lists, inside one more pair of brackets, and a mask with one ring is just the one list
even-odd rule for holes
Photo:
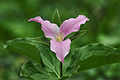
[[22,54],[27,56],[28,58],[32,59],[40,63],[40,53],[36,46],[22,41],[14,41],[8,44],[7,48],[8,51],[12,53]]

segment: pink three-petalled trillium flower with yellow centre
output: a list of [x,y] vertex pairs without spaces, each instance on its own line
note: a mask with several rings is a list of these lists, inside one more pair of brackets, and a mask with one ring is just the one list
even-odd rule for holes
[[84,15],[79,15],[77,18],[70,18],[65,20],[60,27],[56,24],[43,20],[40,16],[31,18],[28,21],[36,21],[41,24],[41,29],[44,32],[45,37],[51,38],[50,49],[56,53],[57,58],[64,62],[64,58],[70,51],[71,40],[64,38],[72,33],[77,32],[80,29],[80,25],[84,24],[89,19]]

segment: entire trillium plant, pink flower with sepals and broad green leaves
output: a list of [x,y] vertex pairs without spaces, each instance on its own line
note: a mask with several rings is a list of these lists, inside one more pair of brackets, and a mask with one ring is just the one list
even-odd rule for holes
[[[22,80],[71,80],[71,77],[79,72],[119,62],[120,50],[100,43],[70,49],[74,46],[70,45],[72,41],[86,32],[79,29],[80,25],[88,20],[87,17],[79,15],[75,19],[65,20],[59,28],[41,17],[32,18],[29,21],[40,23],[45,37],[10,40],[5,47],[0,44],[0,51],[6,49],[30,59],[22,66]],[[58,10],[54,13],[53,23],[61,24]]]

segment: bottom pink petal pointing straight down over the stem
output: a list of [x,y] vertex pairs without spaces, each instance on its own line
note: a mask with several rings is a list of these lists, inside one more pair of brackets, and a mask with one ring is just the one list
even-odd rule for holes
[[70,44],[71,40],[67,39],[65,41],[58,42],[56,40],[51,40],[50,41],[50,49],[56,53],[57,58],[61,61],[64,62],[65,56],[69,53],[70,51]]

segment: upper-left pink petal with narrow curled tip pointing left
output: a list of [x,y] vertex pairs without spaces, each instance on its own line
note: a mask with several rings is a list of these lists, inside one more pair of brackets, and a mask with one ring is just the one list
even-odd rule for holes
[[35,18],[31,18],[28,21],[36,21],[40,23],[41,29],[44,31],[44,34],[47,38],[55,38],[55,34],[59,32],[59,27],[56,24],[50,23],[50,21],[43,20],[40,16],[37,16]]

